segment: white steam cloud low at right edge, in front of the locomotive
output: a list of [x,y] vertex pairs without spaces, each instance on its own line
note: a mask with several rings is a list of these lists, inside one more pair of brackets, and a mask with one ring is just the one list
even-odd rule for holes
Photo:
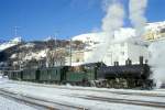
[[150,45],[150,65],[152,66],[153,78],[156,87],[165,82],[165,41],[154,42]]

